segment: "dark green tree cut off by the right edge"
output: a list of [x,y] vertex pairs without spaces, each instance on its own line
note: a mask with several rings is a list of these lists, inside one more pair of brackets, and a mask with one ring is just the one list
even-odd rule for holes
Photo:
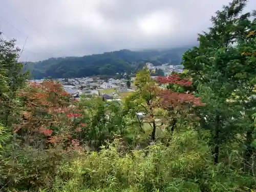
[[[248,13],[249,15],[249,13]],[[247,32],[243,35],[243,38],[238,41],[238,50],[241,53],[243,59],[243,65],[240,66],[240,72],[236,74],[236,78],[239,79],[240,86],[234,93],[233,99],[236,99],[236,104],[244,112],[243,121],[241,122],[241,128],[245,130],[245,164],[252,161],[253,155],[253,141],[255,140],[255,116],[254,110],[256,107],[256,100],[254,97],[256,78],[255,78],[255,63],[256,63],[256,11],[253,11],[251,17],[253,20],[247,18]],[[253,162],[251,162],[253,163]]]

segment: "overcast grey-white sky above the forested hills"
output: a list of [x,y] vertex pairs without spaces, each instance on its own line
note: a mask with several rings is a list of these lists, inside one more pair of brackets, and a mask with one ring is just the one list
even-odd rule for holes
[[[195,44],[229,0],[1,0],[0,31],[23,61]],[[247,9],[256,8],[251,0]],[[27,41],[26,41],[27,39]],[[25,44],[26,41],[26,44]]]

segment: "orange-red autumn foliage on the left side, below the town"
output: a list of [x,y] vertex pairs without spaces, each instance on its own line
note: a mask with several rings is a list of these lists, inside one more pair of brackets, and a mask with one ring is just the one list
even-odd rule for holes
[[[24,112],[14,132],[24,137],[27,144],[38,140],[38,137],[55,144],[71,139],[69,128],[73,126],[73,121],[67,116],[81,115],[70,108],[71,95],[63,90],[60,83],[29,83],[26,89],[20,91],[19,97],[24,101]],[[67,127],[67,131],[60,132],[60,127]]]

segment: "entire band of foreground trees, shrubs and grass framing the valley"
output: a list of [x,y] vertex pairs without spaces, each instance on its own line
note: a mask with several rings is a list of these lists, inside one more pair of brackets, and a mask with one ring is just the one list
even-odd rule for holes
[[154,81],[143,68],[122,103],[28,83],[14,41],[0,39],[0,191],[255,191],[256,14],[245,5],[212,17],[185,73]]

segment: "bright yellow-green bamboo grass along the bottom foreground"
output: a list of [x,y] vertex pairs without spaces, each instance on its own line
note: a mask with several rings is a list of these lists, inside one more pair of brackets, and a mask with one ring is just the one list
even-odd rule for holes
[[156,143],[122,153],[116,140],[100,152],[62,164],[53,191],[247,191],[253,176],[214,165],[207,140],[196,131],[176,133],[169,146]]

